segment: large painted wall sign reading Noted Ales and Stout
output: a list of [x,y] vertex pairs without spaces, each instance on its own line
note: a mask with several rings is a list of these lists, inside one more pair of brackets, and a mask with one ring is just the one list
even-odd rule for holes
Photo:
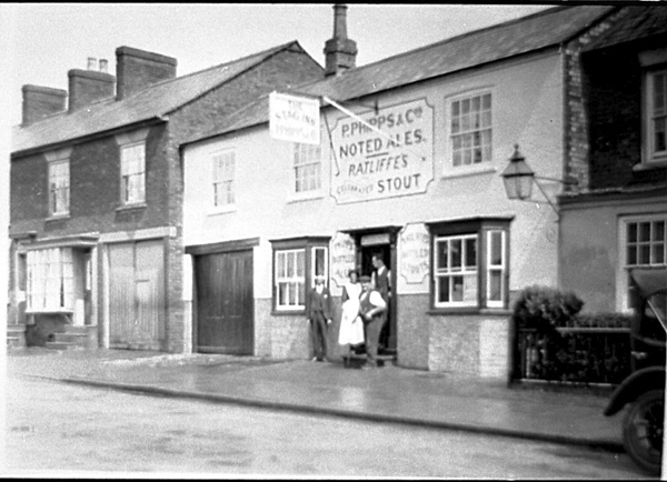
[[426,192],[434,179],[434,108],[426,99],[347,117],[331,131],[331,195],[338,203]]

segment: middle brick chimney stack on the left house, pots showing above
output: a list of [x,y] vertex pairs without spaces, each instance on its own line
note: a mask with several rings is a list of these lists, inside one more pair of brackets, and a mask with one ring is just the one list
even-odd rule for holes
[[101,71],[102,62],[106,60],[100,59],[100,71],[98,72],[97,59],[89,57],[88,70],[72,69],[67,73],[69,77],[69,112],[115,96],[116,78]]

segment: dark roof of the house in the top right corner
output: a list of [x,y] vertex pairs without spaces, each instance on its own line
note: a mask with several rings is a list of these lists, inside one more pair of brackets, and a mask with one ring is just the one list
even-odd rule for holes
[[665,6],[627,6],[614,28],[596,38],[583,50],[595,50],[667,33],[667,8]]

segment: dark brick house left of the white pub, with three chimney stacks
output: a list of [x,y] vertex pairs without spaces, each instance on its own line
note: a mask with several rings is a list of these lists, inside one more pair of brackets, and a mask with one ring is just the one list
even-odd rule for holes
[[183,352],[179,144],[259,96],[320,79],[298,42],[177,77],[129,47],[24,86],[12,131],[8,342]]

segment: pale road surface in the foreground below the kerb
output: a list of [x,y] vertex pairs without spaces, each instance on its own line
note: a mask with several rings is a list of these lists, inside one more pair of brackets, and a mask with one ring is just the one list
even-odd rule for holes
[[[625,454],[8,379],[10,475],[645,479]],[[73,471],[73,472],[72,472]]]

